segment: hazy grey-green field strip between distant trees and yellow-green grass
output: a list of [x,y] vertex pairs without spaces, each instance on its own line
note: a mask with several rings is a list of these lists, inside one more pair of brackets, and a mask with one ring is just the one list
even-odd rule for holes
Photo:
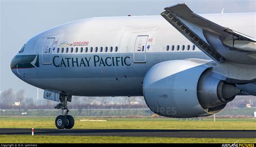
[[[256,108],[225,108],[223,111],[217,114],[217,116],[253,116],[253,112]],[[21,112],[28,113],[26,116],[29,117],[54,117],[61,113],[60,110],[53,109],[41,109],[41,110],[21,110]],[[21,116],[21,113],[17,109],[0,111],[0,116]],[[81,116],[130,116],[139,115],[144,117],[150,117],[154,114],[150,109],[82,109],[79,112],[78,109],[72,109],[69,112],[70,115],[81,117]]]

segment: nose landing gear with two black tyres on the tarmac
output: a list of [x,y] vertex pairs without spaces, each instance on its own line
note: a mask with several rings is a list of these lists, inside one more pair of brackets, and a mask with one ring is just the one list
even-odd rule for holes
[[55,106],[55,109],[62,109],[63,115],[56,117],[55,125],[58,129],[71,129],[75,124],[75,120],[71,115],[68,115],[68,95],[60,95],[60,103]]

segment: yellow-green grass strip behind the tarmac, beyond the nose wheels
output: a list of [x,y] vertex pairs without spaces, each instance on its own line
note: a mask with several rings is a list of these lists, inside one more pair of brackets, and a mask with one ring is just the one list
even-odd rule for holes
[[[256,130],[256,119],[213,119],[203,121],[173,118],[113,118],[106,122],[79,121],[75,118],[74,129],[217,129]],[[93,118],[99,119],[99,118]],[[55,118],[0,118],[0,128],[56,128]]]

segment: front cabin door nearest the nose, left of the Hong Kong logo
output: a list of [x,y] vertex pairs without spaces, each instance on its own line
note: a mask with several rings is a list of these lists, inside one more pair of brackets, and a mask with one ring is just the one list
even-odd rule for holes
[[51,64],[51,50],[53,41],[55,38],[47,38],[44,42],[44,47],[42,50],[42,62],[43,64]]

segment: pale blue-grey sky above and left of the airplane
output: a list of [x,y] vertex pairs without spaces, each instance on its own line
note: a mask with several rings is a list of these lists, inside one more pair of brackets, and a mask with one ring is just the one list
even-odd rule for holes
[[[36,88],[19,80],[10,69],[10,61],[23,44],[35,34],[73,20],[127,15],[159,15],[166,6],[186,3],[196,13],[255,12],[255,0],[116,0],[116,1],[11,1],[0,0],[0,91],[25,89],[36,97]],[[255,20],[256,21],[256,20]],[[255,31],[255,30],[254,30]],[[42,99],[42,90],[40,97]]]

